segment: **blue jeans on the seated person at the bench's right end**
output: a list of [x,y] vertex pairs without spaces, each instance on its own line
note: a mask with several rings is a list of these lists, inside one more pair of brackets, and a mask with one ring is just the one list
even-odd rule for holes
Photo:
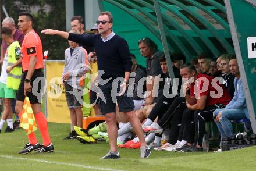
[[216,109],[214,111],[214,116],[221,112],[221,119],[219,122],[215,123],[218,126],[219,132],[221,133],[221,138],[233,136],[233,127],[230,120],[245,119],[246,115],[242,109]]

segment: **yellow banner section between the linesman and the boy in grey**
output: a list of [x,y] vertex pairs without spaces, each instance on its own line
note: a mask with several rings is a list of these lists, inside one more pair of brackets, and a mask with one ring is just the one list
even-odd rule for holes
[[69,108],[65,97],[65,87],[62,84],[64,61],[45,62],[47,80],[47,117],[48,122],[70,123]]

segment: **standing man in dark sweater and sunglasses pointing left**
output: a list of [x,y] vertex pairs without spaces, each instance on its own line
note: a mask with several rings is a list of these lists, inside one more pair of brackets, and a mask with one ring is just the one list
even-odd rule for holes
[[[120,89],[122,90],[118,97],[116,97],[119,111],[125,112],[127,119],[131,123],[131,126],[133,126],[133,130],[140,139],[140,158],[148,158],[151,151],[148,149],[147,144],[145,143],[140,120],[138,120],[138,117],[136,117],[133,111],[133,99],[127,97],[126,87],[127,81],[130,77],[132,65],[129,47],[125,39],[115,35],[115,33],[112,31],[113,17],[110,12],[99,13],[96,23],[100,33],[96,35],[78,35],[52,29],[42,30],[42,33],[59,35],[79,44],[94,46],[95,48],[98,61],[98,71],[104,71],[104,73],[101,75],[101,79],[99,79],[99,88],[104,94],[104,97],[101,97],[99,106],[101,108],[102,115],[105,115],[106,118],[110,145],[110,151],[108,154],[106,154],[106,156],[104,156],[103,159],[120,158],[116,148],[117,126],[115,122],[115,101],[112,101],[112,99],[115,97],[111,95],[112,92],[115,91],[112,88],[116,85],[115,83],[118,83],[119,85],[116,92],[118,92]],[[123,78],[122,84],[119,84],[119,82],[116,81],[118,79],[120,80],[120,78]],[[108,80],[108,83],[101,85],[101,82],[107,82],[106,80]],[[105,98],[106,103],[102,100],[102,98]]]

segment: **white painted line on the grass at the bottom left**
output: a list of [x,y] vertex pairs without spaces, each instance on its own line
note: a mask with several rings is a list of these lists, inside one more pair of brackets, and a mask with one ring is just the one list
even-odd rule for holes
[[0,155],[0,158],[17,159],[17,160],[21,160],[21,161],[33,161],[33,162],[38,162],[38,163],[48,163],[48,164],[54,164],[54,165],[76,166],[79,168],[87,168],[87,169],[95,169],[95,170],[119,171],[119,170],[115,170],[115,169],[80,165],[80,164],[75,164],[75,163],[54,162],[54,161],[46,161],[46,160],[33,159],[33,158],[32,159],[31,158],[20,158],[20,157],[14,157],[14,156],[9,156],[9,155]]

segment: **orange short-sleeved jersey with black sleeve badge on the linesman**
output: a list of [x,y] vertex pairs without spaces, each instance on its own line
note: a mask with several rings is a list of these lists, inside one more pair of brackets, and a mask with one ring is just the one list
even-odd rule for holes
[[37,57],[37,64],[35,69],[44,68],[43,54],[42,54],[42,42],[37,33],[31,30],[24,37],[22,43],[22,69],[27,71],[29,69],[30,56]]

